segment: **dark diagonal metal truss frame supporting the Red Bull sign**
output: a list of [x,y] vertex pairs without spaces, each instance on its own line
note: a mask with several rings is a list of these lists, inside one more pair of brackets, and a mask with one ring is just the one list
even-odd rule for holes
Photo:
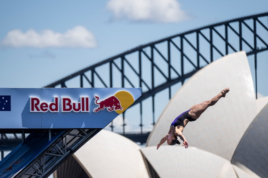
[[[45,151],[21,170],[16,178],[44,178],[52,174],[67,158],[75,153],[101,129],[70,129]],[[50,132],[51,133],[51,132]],[[48,138],[50,139],[50,138]]]

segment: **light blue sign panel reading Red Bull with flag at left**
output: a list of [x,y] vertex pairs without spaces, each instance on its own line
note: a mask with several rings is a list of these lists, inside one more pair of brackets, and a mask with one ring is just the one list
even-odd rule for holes
[[104,128],[140,96],[141,88],[0,88],[0,127]]

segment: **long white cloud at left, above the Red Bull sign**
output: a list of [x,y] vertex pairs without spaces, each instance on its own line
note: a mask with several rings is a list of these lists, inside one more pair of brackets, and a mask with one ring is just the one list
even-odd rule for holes
[[83,47],[92,48],[97,46],[94,35],[82,26],[76,26],[65,33],[57,33],[52,30],[44,30],[37,33],[28,30],[23,33],[15,29],[7,33],[1,41],[1,46],[8,47]]

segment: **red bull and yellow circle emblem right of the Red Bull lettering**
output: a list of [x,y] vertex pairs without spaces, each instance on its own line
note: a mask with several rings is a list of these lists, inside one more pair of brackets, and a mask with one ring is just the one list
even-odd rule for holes
[[109,96],[101,101],[99,101],[99,97],[96,95],[94,98],[94,102],[98,107],[96,107],[93,112],[99,112],[106,108],[109,112],[115,111],[118,114],[121,114],[134,102],[132,95],[126,91],[117,92],[113,96]]

